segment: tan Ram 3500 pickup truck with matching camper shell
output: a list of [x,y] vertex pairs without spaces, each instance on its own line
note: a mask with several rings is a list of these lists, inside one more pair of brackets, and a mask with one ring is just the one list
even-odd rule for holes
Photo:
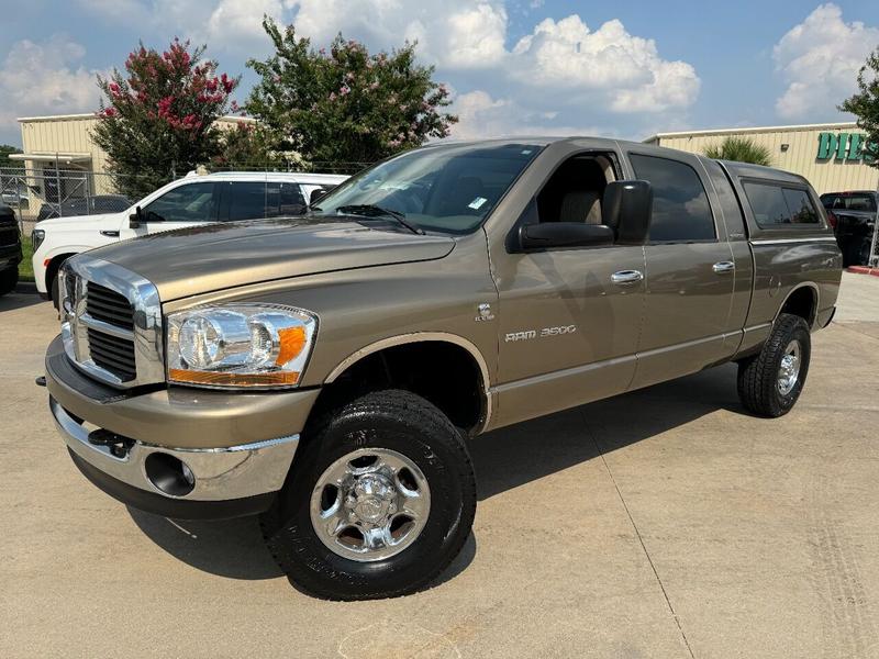
[[839,280],[802,177],[601,138],[436,144],[301,217],[68,259],[49,409],[120,501],[259,514],[300,589],[393,596],[470,533],[468,440],[728,361],[744,407],[781,416]]

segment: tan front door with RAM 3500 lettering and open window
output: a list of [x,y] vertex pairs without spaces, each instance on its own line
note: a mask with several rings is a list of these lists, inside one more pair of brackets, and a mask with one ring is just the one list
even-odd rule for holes
[[[576,156],[542,188],[524,222],[601,223],[603,189],[614,178],[609,157]],[[499,425],[626,390],[644,305],[642,246],[546,249],[492,260],[503,264],[496,272]]]

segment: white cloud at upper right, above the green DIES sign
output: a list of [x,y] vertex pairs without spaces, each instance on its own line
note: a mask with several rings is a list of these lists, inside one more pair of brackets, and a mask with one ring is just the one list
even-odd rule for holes
[[776,112],[788,120],[824,121],[855,91],[858,69],[879,45],[879,27],[846,23],[836,4],[822,4],[776,44],[772,57],[788,83]]

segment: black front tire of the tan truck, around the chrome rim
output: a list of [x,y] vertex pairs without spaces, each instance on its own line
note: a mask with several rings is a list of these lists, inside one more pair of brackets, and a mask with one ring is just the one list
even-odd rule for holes
[[[399,554],[370,562],[340,556],[318,537],[311,498],[331,465],[364,448],[402,454],[430,487],[424,527]],[[476,514],[476,478],[459,431],[408,391],[371,392],[310,424],[290,474],[260,517],[263,536],[290,582],[330,600],[393,597],[427,585],[460,552]]]

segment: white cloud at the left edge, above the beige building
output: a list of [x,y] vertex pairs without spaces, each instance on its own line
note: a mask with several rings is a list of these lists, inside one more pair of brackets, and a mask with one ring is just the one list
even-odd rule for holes
[[65,36],[13,44],[0,68],[0,129],[13,131],[19,116],[97,110],[101,94],[96,71],[79,64],[85,55]]

